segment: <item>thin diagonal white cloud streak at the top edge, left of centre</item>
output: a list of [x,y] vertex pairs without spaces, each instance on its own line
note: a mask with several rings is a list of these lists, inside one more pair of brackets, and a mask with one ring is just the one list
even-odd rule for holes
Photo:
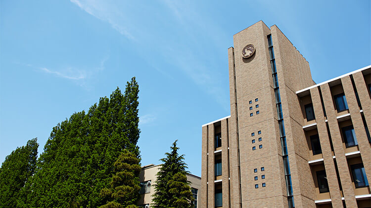
[[72,3],[78,5],[81,9],[85,10],[94,17],[107,21],[111,27],[117,30],[121,35],[124,35],[128,39],[134,39],[134,36],[129,33],[128,29],[116,22],[110,17],[110,11],[105,10],[104,1],[100,2],[98,0],[71,0]]

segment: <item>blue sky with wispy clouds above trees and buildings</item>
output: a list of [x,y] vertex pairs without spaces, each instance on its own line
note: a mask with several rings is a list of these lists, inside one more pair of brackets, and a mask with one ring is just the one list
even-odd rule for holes
[[317,83],[371,63],[369,0],[0,1],[0,162],[139,82],[142,165],[179,140],[201,175],[201,125],[230,115],[233,34],[276,24]]

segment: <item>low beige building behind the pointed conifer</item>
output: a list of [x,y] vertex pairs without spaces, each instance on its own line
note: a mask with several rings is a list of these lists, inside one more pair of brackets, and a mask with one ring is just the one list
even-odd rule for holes
[[[138,206],[140,208],[151,208],[152,207],[152,195],[154,194],[153,184],[156,184],[156,174],[159,171],[161,164],[154,165],[149,164],[141,168],[139,173],[140,181],[140,199],[138,201]],[[194,204],[194,208],[200,208],[197,206],[198,193],[201,186],[201,178],[190,173],[187,173],[187,180],[191,182],[190,187],[193,193],[193,198],[195,199],[191,203]]]

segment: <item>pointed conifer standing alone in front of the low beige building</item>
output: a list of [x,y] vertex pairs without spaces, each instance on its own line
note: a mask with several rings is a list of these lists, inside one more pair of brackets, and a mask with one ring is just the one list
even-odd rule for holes
[[176,140],[171,147],[171,153],[160,159],[164,162],[157,172],[153,202],[155,208],[193,208],[190,182],[187,181],[187,167],[184,155],[179,156]]

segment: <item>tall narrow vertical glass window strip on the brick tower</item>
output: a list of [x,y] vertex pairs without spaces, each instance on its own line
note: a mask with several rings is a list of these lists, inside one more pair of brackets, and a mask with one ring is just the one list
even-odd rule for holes
[[283,113],[282,113],[281,98],[279,94],[276,59],[275,59],[275,52],[273,50],[272,35],[268,35],[267,38],[268,38],[268,47],[269,47],[268,50],[269,50],[269,54],[271,58],[273,86],[274,86],[275,97],[276,97],[279,135],[281,139],[281,149],[282,149],[282,155],[283,155],[282,159],[283,159],[283,166],[285,170],[287,201],[288,201],[288,207],[294,208],[295,204],[294,204],[294,198],[292,197],[293,193],[292,193],[292,184],[291,184],[290,164],[288,162],[286,134],[285,134],[284,123],[283,123]]

